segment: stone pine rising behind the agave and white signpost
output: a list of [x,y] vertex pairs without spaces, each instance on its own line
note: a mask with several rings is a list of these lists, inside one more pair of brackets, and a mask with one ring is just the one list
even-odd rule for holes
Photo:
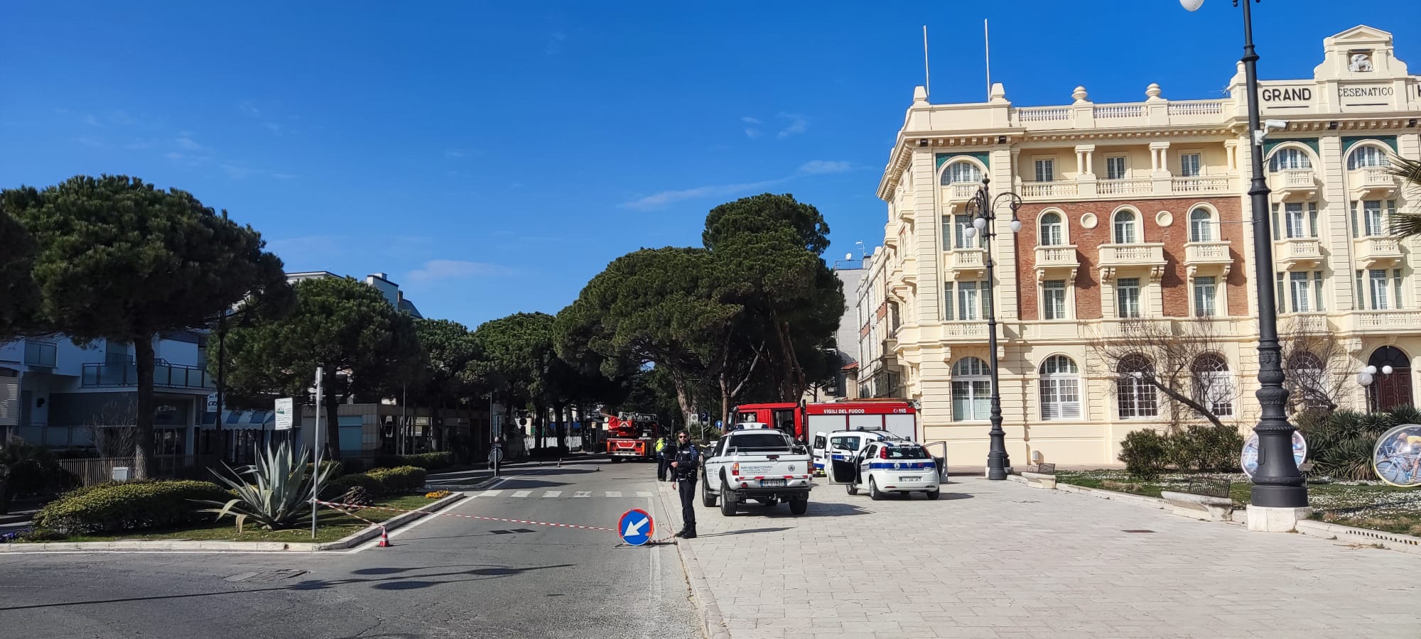
[[227,332],[227,388],[234,405],[270,406],[280,396],[307,396],[323,368],[325,446],[330,459],[340,459],[340,405],[388,393],[418,375],[419,338],[408,312],[357,280],[303,280],[294,290],[288,315]]

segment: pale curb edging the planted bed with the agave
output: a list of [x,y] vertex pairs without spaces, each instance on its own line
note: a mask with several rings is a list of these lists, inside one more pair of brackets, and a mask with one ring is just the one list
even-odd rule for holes
[[462,493],[450,494],[442,500],[429,503],[423,513],[405,513],[381,525],[371,525],[337,541],[324,544],[293,544],[287,541],[82,541],[65,542],[50,541],[44,544],[0,544],[0,552],[104,552],[104,551],[142,551],[142,552],[318,552],[345,550],[379,537],[381,528],[394,530],[405,525],[425,514],[436,513],[455,501],[465,498]]

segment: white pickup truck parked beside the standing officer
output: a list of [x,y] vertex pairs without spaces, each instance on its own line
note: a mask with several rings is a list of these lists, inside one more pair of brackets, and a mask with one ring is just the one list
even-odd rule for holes
[[789,501],[790,513],[809,510],[813,487],[809,450],[763,423],[737,423],[705,453],[701,503],[732,517],[746,500],[764,506]]

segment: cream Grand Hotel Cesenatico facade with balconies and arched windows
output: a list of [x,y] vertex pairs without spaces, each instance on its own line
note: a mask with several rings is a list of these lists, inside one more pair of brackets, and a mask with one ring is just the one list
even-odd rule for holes
[[[1337,398],[1363,408],[1421,396],[1421,278],[1415,240],[1388,237],[1387,214],[1417,212],[1385,156],[1421,158],[1421,78],[1391,34],[1358,26],[1323,41],[1309,80],[1260,81],[1273,193],[1279,325],[1331,334],[1347,375],[1393,366]],[[1266,71],[1266,67],[1265,67]],[[988,364],[985,251],[965,204],[982,178],[1022,196],[1020,233],[998,210],[992,241],[999,376],[1012,463],[1111,464],[1131,430],[1168,423],[1165,399],[1123,388],[1096,345],[1134,318],[1172,325],[1205,315],[1221,335],[1205,392],[1241,429],[1258,420],[1253,148],[1242,65],[1222,99],[1096,104],[1084,88],[1057,106],[1015,106],[1000,84],[979,104],[914,95],[878,186],[884,243],[857,291],[864,395],[921,403],[921,437],[946,440],[955,464],[985,464]],[[976,240],[976,241],[975,241]],[[1378,395],[1380,393],[1380,395]],[[1196,422],[1202,423],[1202,419]]]

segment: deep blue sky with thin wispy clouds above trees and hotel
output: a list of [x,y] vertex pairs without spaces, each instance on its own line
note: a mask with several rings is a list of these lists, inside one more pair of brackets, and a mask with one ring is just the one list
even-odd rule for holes
[[[557,312],[617,256],[699,244],[764,190],[816,204],[826,257],[882,239],[875,187],[914,85],[1017,105],[1219,97],[1228,0],[1108,3],[11,3],[0,186],[126,173],[263,233],[288,271],[384,271],[426,317]],[[881,4],[881,7],[880,7]],[[135,9],[136,7],[136,9]],[[1260,75],[1414,3],[1255,4]]]

